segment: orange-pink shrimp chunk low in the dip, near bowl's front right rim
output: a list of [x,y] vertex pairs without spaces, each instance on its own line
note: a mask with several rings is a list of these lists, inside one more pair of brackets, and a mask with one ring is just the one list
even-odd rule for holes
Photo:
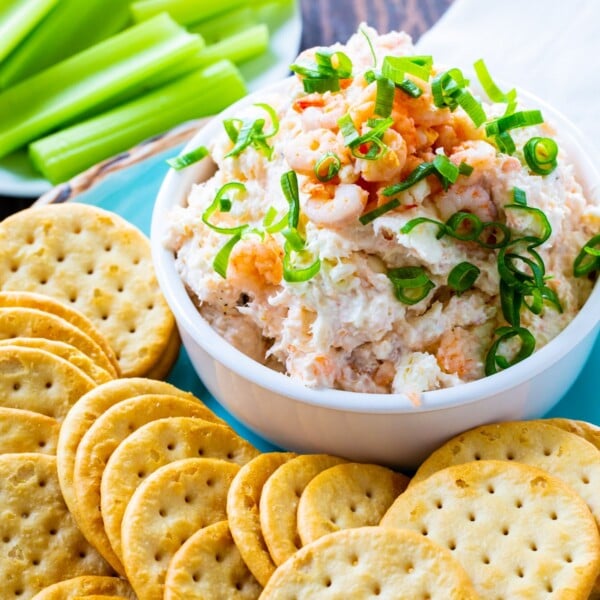
[[462,327],[453,327],[442,335],[436,358],[446,373],[456,373],[463,380],[484,375],[481,339]]

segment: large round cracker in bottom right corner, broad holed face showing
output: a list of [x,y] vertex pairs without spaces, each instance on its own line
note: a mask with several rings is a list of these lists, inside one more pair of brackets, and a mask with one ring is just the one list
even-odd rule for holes
[[563,481],[517,462],[447,467],[410,486],[381,521],[449,548],[482,598],[587,599],[600,537]]

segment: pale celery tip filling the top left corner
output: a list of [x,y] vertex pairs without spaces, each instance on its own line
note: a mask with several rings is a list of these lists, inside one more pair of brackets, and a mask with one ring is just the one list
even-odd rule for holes
[[3,0],[0,4],[0,61],[54,8],[58,0]]

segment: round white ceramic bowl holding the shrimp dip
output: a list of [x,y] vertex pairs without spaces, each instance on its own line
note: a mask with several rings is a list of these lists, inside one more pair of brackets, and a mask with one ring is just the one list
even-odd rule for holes
[[[268,89],[280,85],[285,82]],[[598,194],[600,176],[592,161],[593,149],[557,111],[525,92],[519,97],[529,107],[541,108],[557,127],[586,193]],[[241,106],[258,98],[249,96],[227,109],[201,129],[183,152],[206,145],[222,127],[222,119],[235,116]],[[296,451],[411,468],[460,431],[486,422],[541,416],[581,371],[599,329],[600,285],[566,329],[531,357],[479,381],[426,392],[419,406],[402,394],[308,389],[256,363],[200,316],[176,271],[173,254],[164,247],[167,214],[171,207],[185,204],[194,182],[212,174],[209,162],[180,172],[171,170],[165,178],[152,217],[154,265],[198,375],[227,410],[271,442]]]

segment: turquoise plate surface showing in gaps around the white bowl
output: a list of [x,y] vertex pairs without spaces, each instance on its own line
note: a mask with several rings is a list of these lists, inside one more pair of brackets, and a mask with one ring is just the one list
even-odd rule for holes
[[[77,196],[77,200],[114,211],[149,235],[154,199],[168,170],[165,160],[176,156],[179,151],[180,148],[174,148],[121,172],[111,174],[91,190]],[[576,382],[548,416],[583,419],[600,425],[599,379],[600,339],[596,341],[591,358],[583,367]],[[249,431],[227,413],[208,393],[196,375],[184,349],[181,350],[168,380],[181,389],[189,390],[206,400],[212,410],[261,450],[274,449],[274,446]]]

